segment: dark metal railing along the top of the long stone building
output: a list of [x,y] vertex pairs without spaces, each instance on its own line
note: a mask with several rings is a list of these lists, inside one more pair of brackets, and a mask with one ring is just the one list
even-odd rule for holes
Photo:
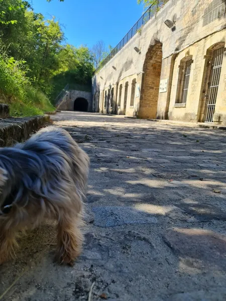
[[141,29],[142,27],[166,4],[169,0],[156,0],[142,15],[138,22],[131,28],[120,43],[100,63],[94,73],[108,63]]

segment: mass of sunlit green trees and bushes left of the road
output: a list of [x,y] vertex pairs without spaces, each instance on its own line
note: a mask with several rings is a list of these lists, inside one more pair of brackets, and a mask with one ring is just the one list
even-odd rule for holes
[[54,101],[65,80],[91,81],[93,57],[88,48],[65,45],[59,22],[34,13],[27,1],[0,0],[0,38],[0,91],[11,106],[19,101],[49,110],[48,97]]

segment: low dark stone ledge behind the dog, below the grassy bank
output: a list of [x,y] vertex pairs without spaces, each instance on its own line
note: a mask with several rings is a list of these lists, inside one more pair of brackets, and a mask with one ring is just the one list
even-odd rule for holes
[[11,146],[29,138],[30,134],[45,123],[50,116],[8,118],[0,121],[0,146]]

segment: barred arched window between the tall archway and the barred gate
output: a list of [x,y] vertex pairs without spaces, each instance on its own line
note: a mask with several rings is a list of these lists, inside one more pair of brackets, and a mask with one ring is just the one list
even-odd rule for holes
[[185,57],[180,61],[176,103],[186,104],[187,102],[192,63],[192,56]]

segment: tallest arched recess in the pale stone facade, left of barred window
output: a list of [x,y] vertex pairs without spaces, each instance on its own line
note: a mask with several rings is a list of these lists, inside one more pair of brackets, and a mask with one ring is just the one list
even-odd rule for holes
[[141,98],[138,116],[155,119],[159,98],[162,70],[162,43],[151,45],[146,54],[141,85]]

